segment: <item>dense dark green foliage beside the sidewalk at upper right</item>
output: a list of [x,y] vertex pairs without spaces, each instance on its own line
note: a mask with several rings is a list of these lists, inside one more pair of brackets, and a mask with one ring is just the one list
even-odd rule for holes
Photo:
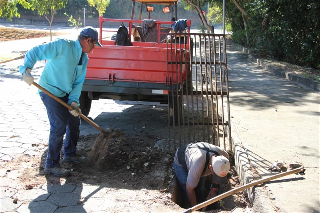
[[[222,6],[217,0],[215,6]],[[232,40],[263,57],[320,69],[320,1],[226,0]]]

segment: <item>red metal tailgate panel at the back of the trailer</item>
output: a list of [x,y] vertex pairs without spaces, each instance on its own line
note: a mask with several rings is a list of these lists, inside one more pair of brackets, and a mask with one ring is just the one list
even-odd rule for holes
[[[168,64],[167,57],[173,58],[169,61],[179,61],[180,54],[176,54],[175,59],[175,50],[168,51],[169,54],[166,48],[103,45],[95,48],[93,54],[88,54],[86,79],[166,83],[169,68],[169,79],[176,83],[176,70],[179,70],[180,63]],[[181,83],[180,75],[178,83]]]

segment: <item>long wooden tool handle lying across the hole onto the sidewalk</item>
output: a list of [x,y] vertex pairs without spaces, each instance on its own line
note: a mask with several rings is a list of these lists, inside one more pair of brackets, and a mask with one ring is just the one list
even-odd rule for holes
[[264,182],[268,182],[270,180],[273,180],[273,179],[276,179],[276,178],[279,178],[279,177],[284,177],[284,176],[287,176],[287,175],[291,175],[291,174],[294,174],[294,173],[298,173],[298,172],[301,172],[303,171],[302,168],[297,168],[297,169],[294,169],[294,170],[290,170],[290,171],[286,171],[286,172],[283,172],[283,173],[279,173],[279,174],[276,174],[276,175],[273,175],[271,177],[266,177],[266,178],[262,178],[261,180],[257,180],[257,181],[253,181],[251,183],[248,183],[246,185],[243,185],[243,186],[239,186],[235,189],[232,189],[228,192],[225,192],[223,194],[220,194],[219,196],[216,196],[214,198],[211,198],[210,200],[207,200],[207,201],[204,201],[198,205],[195,205],[185,211],[183,211],[182,213],[187,213],[187,212],[193,212],[193,211],[196,211],[198,209],[201,209],[205,206],[208,206],[214,202],[217,202],[217,201],[220,201],[221,199],[225,198],[225,197],[228,197],[229,195],[232,195],[232,194],[235,194],[237,192],[241,192],[247,188],[250,188],[252,186],[255,186],[255,185],[258,185],[258,184],[262,184]]

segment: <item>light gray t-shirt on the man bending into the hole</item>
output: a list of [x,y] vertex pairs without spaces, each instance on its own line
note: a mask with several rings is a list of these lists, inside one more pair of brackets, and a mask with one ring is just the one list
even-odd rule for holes
[[[227,159],[229,159],[228,153],[220,148],[219,146],[215,146],[212,144],[204,143],[204,142],[197,142],[196,143],[199,147],[204,147],[204,144],[206,144],[210,150],[218,152],[220,155],[225,156]],[[187,153],[186,153],[186,163],[187,163],[187,169],[188,169],[188,177],[187,182],[190,186],[196,187],[199,183],[200,177],[210,175],[210,170],[208,167],[206,168],[205,172],[203,173],[205,161],[206,161],[206,153],[207,151],[199,148],[193,148],[192,146],[189,147]],[[212,155],[215,155],[213,153],[210,153],[210,157]],[[174,162],[178,166],[182,166],[178,161],[178,150],[174,156]]]

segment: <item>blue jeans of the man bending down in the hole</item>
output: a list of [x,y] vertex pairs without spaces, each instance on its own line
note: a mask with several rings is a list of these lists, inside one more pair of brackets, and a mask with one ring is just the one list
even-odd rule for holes
[[[182,200],[181,207],[188,209],[192,207],[187,196],[186,184],[187,184],[188,170],[185,169],[183,166],[178,166],[175,162],[173,162],[173,168],[174,168],[174,172],[176,173],[178,184],[180,186],[181,200]],[[195,188],[196,199],[198,204],[204,201],[204,181],[205,181],[205,177],[200,177],[199,183]]]

